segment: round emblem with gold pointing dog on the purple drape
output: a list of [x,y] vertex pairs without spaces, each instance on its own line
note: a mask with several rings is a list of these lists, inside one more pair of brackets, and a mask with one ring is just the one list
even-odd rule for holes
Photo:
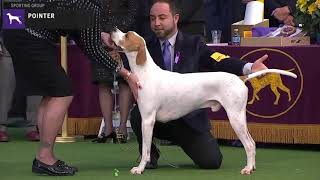
[[300,99],[303,90],[303,74],[294,57],[275,48],[259,48],[243,55],[241,59],[255,61],[257,57],[268,54],[266,61],[269,68],[285,69],[297,74],[292,80],[279,74],[270,73],[250,79],[248,82],[248,114],[272,119],[286,114]]

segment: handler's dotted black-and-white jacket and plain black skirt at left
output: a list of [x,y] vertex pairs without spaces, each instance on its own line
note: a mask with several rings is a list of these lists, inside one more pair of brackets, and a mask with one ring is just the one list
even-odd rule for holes
[[58,62],[55,44],[61,35],[68,34],[91,60],[118,72],[122,63],[114,61],[102,47],[100,17],[101,9],[91,0],[32,0],[50,2],[54,8],[65,10],[85,9],[92,14],[94,25],[89,28],[67,30],[23,29],[5,30],[4,43],[12,56],[17,88],[22,95],[63,97],[72,94],[71,83]]

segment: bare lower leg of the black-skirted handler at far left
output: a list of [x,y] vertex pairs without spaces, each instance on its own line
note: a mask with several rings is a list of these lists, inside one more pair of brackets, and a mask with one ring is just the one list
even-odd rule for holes
[[40,147],[36,158],[43,163],[52,165],[57,161],[53,153],[54,142],[72,98],[72,96],[44,97],[40,103],[38,108]]

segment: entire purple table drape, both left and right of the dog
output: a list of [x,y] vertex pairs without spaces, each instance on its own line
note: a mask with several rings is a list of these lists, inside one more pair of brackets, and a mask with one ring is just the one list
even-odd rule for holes
[[[265,64],[269,68],[283,69],[298,75],[297,79],[293,79],[271,74],[247,82],[248,122],[320,124],[320,58],[317,56],[320,46],[212,48],[250,62],[268,54]],[[90,63],[78,47],[68,47],[68,64],[74,89],[69,117],[100,117],[98,90],[91,84]],[[209,112],[209,115],[211,119],[227,120],[223,109]]]

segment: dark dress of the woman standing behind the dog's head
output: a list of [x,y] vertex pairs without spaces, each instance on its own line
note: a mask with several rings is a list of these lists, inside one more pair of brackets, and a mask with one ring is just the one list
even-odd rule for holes
[[[115,26],[123,32],[133,30],[132,27],[135,22],[138,6],[136,0],[102,0],[101,6],[101,24],[104,32],[110,32]],[[120,56],[123,60],[124,67],[130,69],[126,56],[124,54],[120,54]],[[93,83],[103,83],[112,86],[114,73],[108,71],[105,66],[96,61],[92,61],[91,72]],[[116,76],[116,79],[118,82],[127,83],[120,76]]]

